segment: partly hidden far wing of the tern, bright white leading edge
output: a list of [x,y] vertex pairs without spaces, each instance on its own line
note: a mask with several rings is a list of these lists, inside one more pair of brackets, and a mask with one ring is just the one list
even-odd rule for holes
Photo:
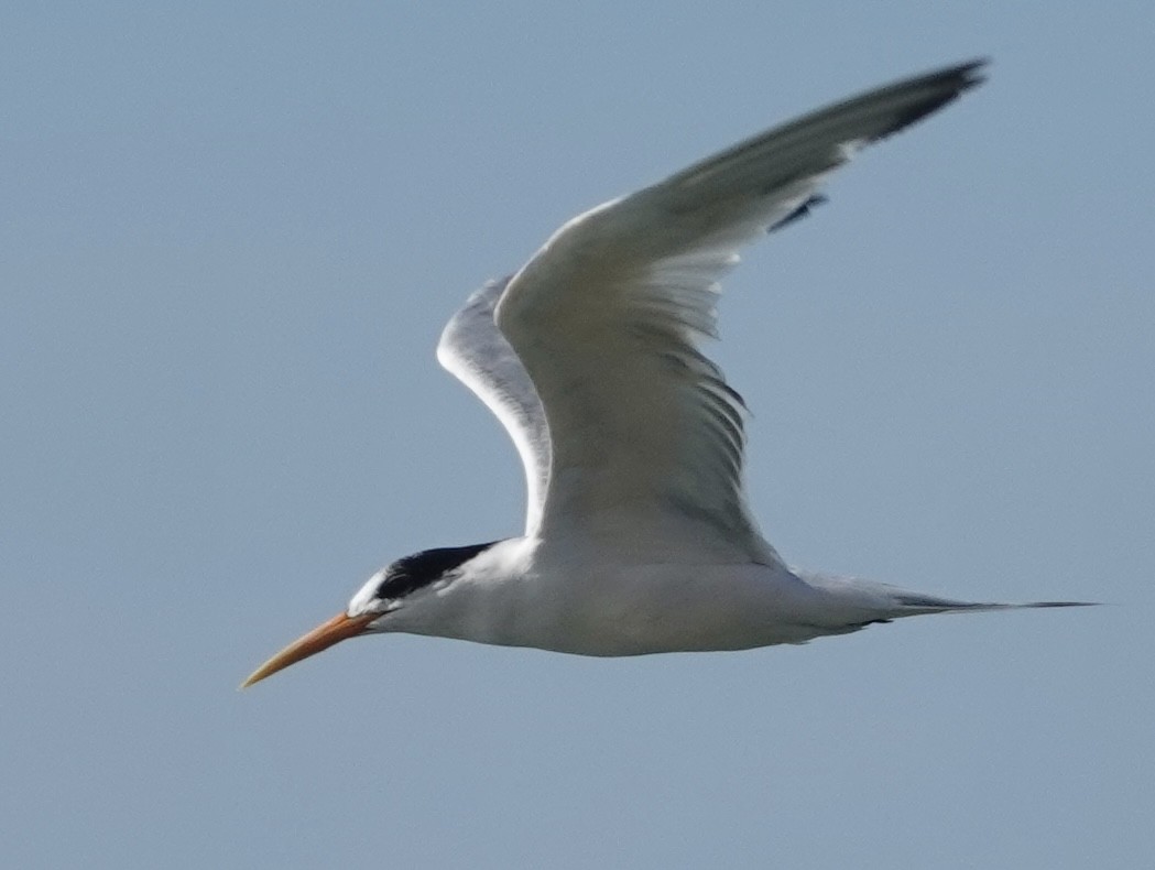
[[550,479],[550,431],[545,410],[521,359],[493,322],[493,308],[509,278],[491,281],[465,302],[441,333],[437,358],[485,402],[513,439],[526,468],[526,534],[542,518]]

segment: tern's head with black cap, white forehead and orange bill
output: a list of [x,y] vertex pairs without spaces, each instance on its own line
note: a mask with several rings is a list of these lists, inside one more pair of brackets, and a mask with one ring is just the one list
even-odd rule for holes
[[490,549],[493,543],[423,550],[387,565],[365,581],[344,611],[274,655],[254,670],[240,687],[247,689],[342,640],[394,631],[397,614],[453,582],[461,575],[465,563]]

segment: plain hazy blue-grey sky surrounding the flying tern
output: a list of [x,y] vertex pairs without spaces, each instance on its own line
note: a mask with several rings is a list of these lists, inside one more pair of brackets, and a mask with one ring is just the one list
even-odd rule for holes
[[[1155,854],[1149,0],[0,12],[0,864],[1135,868]],[[990,82],[750,251],[710,352],[791,563],[1110,607],[587,660],[404,635],[520,531],[442,324],[793,113]]]

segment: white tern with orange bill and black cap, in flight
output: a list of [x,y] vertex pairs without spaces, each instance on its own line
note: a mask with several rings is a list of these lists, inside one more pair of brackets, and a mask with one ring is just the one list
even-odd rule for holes
[[393,562],[241,687],[388,632],[628,656],[1085,604],[962,601],[789,566],[747,501],[745,403],[701,349],[739,251],[824,202],[865,146],[982,83],[986,62],[862,92],[610,200],[474,292],[437,356],[516,447],[524,533]]

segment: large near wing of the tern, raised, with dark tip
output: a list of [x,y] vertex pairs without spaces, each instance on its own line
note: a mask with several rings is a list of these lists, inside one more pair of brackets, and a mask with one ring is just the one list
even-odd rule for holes
[[[804,211],[856,150],[977,84],[981,66],[869,91],[602,205],[514,275],[497,325],[544,406],[550,452],[520,367],[497,378],[489,367],[483,399],[517,421],[506,426],[522,439],[531,492],[545,489],[543,534],[619,558],[677,559],[687,541],[716,559],[776,558],[746,507],[742,399],[698,349],[714,334],[717,282],[743,245]],[[492,401],[497,382],[512,399]]]

